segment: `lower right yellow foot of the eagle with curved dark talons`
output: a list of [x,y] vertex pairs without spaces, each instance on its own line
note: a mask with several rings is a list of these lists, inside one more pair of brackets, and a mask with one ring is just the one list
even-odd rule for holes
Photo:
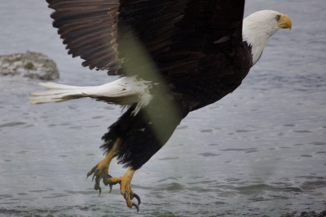
[[[137,194],[133,193],[133,191],[131,190],[131,187],[130,187],[131,180],[132,180],[134,173],[135,173],[135,170],[132,167],[129,167],[123,176],[111,177],[110,175],[103,174],[101,177],[99,177],[98,181],[100,181],[102,178],[108,178],[108,180],[103,180],[103,183],[106,185],[107,184],[110,185],[110,192],[112,190],[112,185],[119,183],[121,195],[123,195],[124,198],[126,199],[127,206],[130,208],[133,206],[136,207],[137,213],[138,213],[138,211],[139,211],[138,206],[141,203],[141,199]],[[137,199],[138,205],[131,201],[134,197]]]

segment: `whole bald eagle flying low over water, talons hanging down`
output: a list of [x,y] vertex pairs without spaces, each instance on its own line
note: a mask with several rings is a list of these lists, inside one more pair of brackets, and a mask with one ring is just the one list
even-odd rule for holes
[[[288,16],[258,11],[243,20],[244,0],[46,0],[68,54],[83,66],[122,78],[97,87],[39,83],[31,104],[82,97],[127,107],[102,137],[105,158],[88,173],[119,183],[128,207],[140,197],[130,183],[189,112],[222,99],[259,60],[267,39],[291,29]],[[128,167],[111,177],[112,158]],[[133,198],[138,204],[133,203]]]

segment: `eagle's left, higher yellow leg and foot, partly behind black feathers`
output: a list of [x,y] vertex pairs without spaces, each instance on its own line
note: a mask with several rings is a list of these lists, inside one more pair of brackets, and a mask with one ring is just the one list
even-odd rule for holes
[[[115,147],[117,146],[119,142],[119,139],[117,139],[111,150],[109,151],[109,153],[104,157],[103,160],[101,160],[98,164],[95,165],[95,167],[93,167],[90,171],[88,171],[87,173],[87,177],[86,179],[92,175],[93,173],[93,178],[92,178],[92,182],[95,178],[95,185],[94,185],[94,189],[95,190],[98,190],[99,191],[99,194],[101,194],[101,187],[100,187],[100,177],[103,178],[103,183],[105,185],[108,185],[110,184],[108,182],[109,178],[111,178],[111,176],[108,174],[108,171],[109,171],[109,166],[110,166],[110,163],[111,163],[111,160],[115,157]],[[103,175],[106,175],[106,176],[103,176]],[[102,177],[103,176],[103,177]],[[112,185],[110,184],[110,192],[111,192],[111,189],[112,189]]]

